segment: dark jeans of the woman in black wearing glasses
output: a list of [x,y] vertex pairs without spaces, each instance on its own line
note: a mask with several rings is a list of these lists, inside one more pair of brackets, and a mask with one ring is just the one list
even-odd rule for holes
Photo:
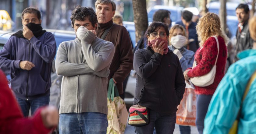
[[136,134],[153,134],[154,128],[157,134],[172,134],[176,123],[176,111],[166,115],[149,110],[149,124],[135,127]]

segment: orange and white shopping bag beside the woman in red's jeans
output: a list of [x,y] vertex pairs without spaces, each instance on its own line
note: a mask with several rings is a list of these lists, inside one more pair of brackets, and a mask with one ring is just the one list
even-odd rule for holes
[[178,106],[176,124],[196,125],[196,95],[194,89],[186,88],[183,99]]

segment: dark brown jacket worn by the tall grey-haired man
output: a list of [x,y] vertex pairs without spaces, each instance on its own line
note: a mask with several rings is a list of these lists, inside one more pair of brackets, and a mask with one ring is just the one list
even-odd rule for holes
[[[105,24],[98,23],[97,37],[101,38],[104,31],[112,24],[112,20]],[[129,33],[124,26],[114,24],[104,40],[112,42],[115,46],[108,81],[114,78],[119,94],[123,94],[123,81],[133,68],[133,52]]]

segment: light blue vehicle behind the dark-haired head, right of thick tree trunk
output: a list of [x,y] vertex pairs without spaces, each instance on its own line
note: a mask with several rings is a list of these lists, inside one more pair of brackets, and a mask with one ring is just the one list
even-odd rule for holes
[[180,21],[180,17],[181,17],[183,7],[155,5],[148,12],[148,22],[153,21],[153,15],[158,9],[166,9],[166,10],[169,10],[171,12],[170,19],[172,19],[172,26],[173,26],[173,25],[175,25],[175,22]]

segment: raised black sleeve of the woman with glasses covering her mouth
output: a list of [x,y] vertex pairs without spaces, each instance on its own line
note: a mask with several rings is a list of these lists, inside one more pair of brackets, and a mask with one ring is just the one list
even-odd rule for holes
[[[134,62],[133,67],[136,71],[137,75],[141,78],[146,79],[150,77],[160,65],[162,59],[162,55],[159,53],[154,53],[149,62],[145,59],[144,55],[141,54],[139,50],[137,50],[134,54]],[[184,77],[184,76],[183,76]]]

